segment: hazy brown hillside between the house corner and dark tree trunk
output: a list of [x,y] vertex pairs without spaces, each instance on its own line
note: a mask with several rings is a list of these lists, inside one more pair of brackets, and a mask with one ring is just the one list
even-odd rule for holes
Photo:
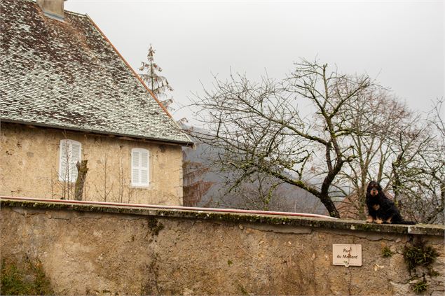
[[[189,129],[190,127],[185,127]],[[196,130],[196,129],[195,129]],[[205,132],[200,130],[200,132]],[[269,211],[289,211],[301,213],[325,213],[319,199],[310,193],[287,183],[278,185],[270,202],[263,202],[259,193],[259,182],[244,184],[239,190],[227,192],[226,181],[230,181],[231,171],[220,172],[212,167],[212,157],[218,153],[214,148],[199,143],[196,150],[183,148],[184,154],[184,206],[218,207],[232,209],[267,208]],[[263,180],[261,185],[271,185],[271,180]],[[270,188],[270,186],[268,187]],[[267,189],[266,188],[266,192]],[[264,191],[264,190],[263,190]]]

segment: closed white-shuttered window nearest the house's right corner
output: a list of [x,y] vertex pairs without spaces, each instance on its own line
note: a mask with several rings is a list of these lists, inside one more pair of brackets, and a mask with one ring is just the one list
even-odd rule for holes
[[131,150],[131,185],[149,185],[149,150],[133,148]]

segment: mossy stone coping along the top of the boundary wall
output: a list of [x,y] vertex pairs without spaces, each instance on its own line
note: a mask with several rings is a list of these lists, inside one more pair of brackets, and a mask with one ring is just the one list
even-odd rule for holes
[[69,204],[43,201],[13,200],[2,197],[0,207],[19,207],[49,211],[81,211],[95,213],[120,213],[126,215],[156,216],[158,218],[193,218],[198,220],[216,220],[231,223],[253,223],[266,225],[283,225],[294,227],[324,228],[330,230],[357,230],[392,234],[421,234],[445,236],[444,225],[416,224],[390,225],[369,224],[362,220],[341,220],[331,218],[308,218],[299,216],[260,215],[251,213],[221,213],[212,211],[191,211],[182,209],[149,209],[137,206]]

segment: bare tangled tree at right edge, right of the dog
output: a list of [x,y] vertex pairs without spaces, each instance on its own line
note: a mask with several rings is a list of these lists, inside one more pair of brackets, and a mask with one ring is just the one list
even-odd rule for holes
[[444,223],[445,135],[437,101],[426,120],[416,116],[392,134],[388,180],[395,202],[411,219]]

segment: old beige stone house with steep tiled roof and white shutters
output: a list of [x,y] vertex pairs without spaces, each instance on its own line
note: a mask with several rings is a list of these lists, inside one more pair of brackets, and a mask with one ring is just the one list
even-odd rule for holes
[[0,1],[0,195],[182,205],[193,142],[88,17]]

